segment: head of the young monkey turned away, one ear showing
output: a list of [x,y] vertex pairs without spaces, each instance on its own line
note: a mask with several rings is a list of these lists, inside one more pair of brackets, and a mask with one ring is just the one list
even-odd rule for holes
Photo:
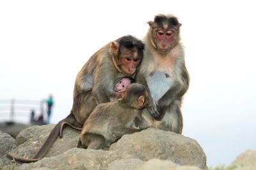
[[148,103],[148,92],[145,86],[140,83],[132,83],[127,87],[121,102],[131,108],[145,108]]

